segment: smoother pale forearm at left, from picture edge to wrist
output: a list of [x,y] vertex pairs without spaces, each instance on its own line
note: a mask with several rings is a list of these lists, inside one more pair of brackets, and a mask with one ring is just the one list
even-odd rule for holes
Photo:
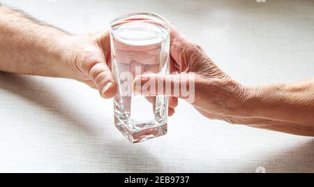
[[63,59],[68,33],[0,6],[0,70],[67,77]]

